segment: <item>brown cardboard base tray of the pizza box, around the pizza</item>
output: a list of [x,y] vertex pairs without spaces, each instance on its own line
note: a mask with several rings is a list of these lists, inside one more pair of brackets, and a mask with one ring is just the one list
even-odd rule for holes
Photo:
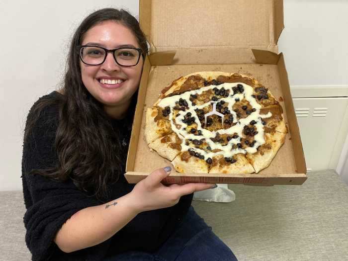
[[[155,58],[147,58],[141,87],[139,88],[138,104],[127,159],[125,177],[128,182],[137,183],[152,171],[166,166],[172,167],[172,173],[163,180],[164,183],[208,182],[299,185],[306,180],[306,165],[284,58],[282,54],[277,55],[263,50],[254,50],[254,55],[258,58],[254,64],[224,65],[151,65],[151,63],[170,64],[171,57],[174,56],[170,52],[166,52],[162,56],[156,54]],[[144,136],[146,108],[151,107],[156,102],[161,90],[169,86],[174,79],[199,71],[236,72],[254,77],[269,88],[277,98],[283,108],[285,124],[289,132],[286,135],[285,143],[266,169],[258,174],[181,174],[175,172],[170,161],[162,158],[155,151],[150,151]]]

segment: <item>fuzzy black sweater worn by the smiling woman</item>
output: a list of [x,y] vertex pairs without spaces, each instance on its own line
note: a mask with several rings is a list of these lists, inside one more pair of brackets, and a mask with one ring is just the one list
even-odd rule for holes
[[[55,95],[61,94],[54,91],[43,97],[53,98]],[[33,109],[29,111],[27,119],[32,113]],[[138,214],[113,237],[99,245],[69,254],[57,247],[53,241],[54,237],[72,215],[81,209],[102,204],[95,197],[87,196],[79,190],[71,179],[57,182],[42,175],[29,174],[31,170],[42,170],[57,165],[54,143],[58,123],[58,105],[47,106],[40,113],[32,132],[23,144],[22,182],[27,209],[24,215],[27,230],[25,241],[32,254],[32,260],[94,261],[129,250],[150,253],[155,251],[181,222],[191,204],[193,194],[182,196],[173,207]],[[117,128],[121,122],[112,120],[112,123]],[[127,129],[122,129],[121,139],[126,141],[124,144],[128,144]],[[129,193],[133,187],[134,184],[128,184],[124,176],[120,175],[119,180],[110,187],[111,195],[108,200]]]

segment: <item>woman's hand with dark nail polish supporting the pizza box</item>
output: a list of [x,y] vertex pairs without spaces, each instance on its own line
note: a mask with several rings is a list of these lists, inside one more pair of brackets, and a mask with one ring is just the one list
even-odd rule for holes
[[215,187],[215,184],[209,183],[172,184],[166,186],[162,184],[161,181],[167,177],[170,172],[170,167],[152,172],[145,179],[137,183],[128,194],[128,196],[132,198],[133,206],[139,212],[171,207],[175,205],[183,195]]

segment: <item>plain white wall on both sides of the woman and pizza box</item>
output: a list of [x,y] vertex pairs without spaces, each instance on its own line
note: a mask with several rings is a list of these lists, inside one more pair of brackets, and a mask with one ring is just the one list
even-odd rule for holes
[[[57,88],[74,29],[101,7],[138,14],[138,0],[0,1],[0,190],[21,189],[28,109]],[[348,1],[284,0],[284,9],[290,85],[348,85]]]

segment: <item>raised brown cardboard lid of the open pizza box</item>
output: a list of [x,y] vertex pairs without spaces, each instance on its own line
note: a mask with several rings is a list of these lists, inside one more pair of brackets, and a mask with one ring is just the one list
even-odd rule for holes
[[278,52],[282,0],[140,0],[151,53],[176,51],[175,64],[251,63],[251,49]]

